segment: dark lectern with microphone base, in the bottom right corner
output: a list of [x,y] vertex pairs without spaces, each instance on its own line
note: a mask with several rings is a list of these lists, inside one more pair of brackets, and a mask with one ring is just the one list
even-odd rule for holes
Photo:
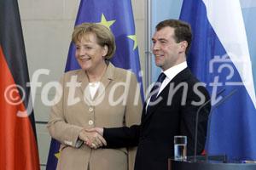
[[256,170],[256,163],[236,163],[226,161],[225,156],[199,156],[197,161],[168,159],[168,170]]

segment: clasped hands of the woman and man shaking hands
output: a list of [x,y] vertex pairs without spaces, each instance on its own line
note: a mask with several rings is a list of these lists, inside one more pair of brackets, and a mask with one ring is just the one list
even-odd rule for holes
[[79,133],[79,139],[84,142],[84,144],[88,145],[92,149],[97,149],[106,146],[107,142],[102,137],[103,136],[103,128],[102,127],[94,127],[90,129],[83,129]]

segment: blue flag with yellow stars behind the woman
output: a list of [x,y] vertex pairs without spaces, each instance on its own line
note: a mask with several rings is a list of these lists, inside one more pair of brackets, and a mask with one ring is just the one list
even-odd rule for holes
[[[133,71],[137,81],[141,84],[143,99],[143,80],[138,55],[137,37],[135,34],[134,19],[131,0],[81,0],[75,26],[84,22],[99,23],[113,32],[116,42],[116,52],[111,59],[113,65]],[[70,44],[66,71],[79,69],[75,59],[75,46]],[[47,170],[55,170],[60,144],[55,139],[51,140]]]

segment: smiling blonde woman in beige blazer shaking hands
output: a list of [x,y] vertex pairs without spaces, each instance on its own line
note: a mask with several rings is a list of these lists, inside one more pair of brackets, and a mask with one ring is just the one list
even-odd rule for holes
[[[73,42],[81,69],[61,77],[59,101],[52,107],[48,123],[52,138],[61,142],[57,169],[133,169],[134,150],[95,150],[84,143],[90,138],[87,128],[140,123],[142,101],[137,78],[108,61],[115,52],[115,42],[107,27],[92,23],[76,26]],[[95,144],[106,143],[99,135]]]

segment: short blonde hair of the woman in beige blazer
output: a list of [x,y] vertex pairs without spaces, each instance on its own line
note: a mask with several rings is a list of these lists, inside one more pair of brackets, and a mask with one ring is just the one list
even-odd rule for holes
[[72,41],[74,43],[80,42],[81,38],[88,33],[96,35],[96,42],[102,46],[108,46],[108,54],[105,59],[111,59],[115,52],[115,42],[113,33],[106,26],[95,23],[83,23],[79,26],[75,26],[72,34]]

